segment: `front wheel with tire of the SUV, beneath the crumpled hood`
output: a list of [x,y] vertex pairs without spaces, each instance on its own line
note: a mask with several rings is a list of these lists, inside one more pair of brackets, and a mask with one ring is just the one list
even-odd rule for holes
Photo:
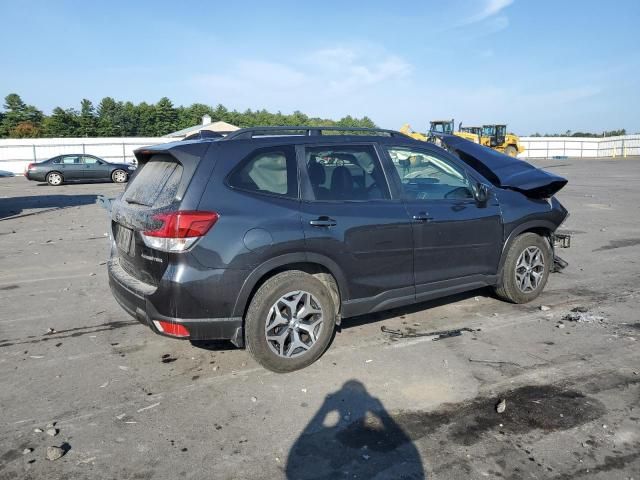
[[512,303],[527,303],[544,290],[553,253],[549,242],[535,233],[523,233],[509,246],[496,294]]

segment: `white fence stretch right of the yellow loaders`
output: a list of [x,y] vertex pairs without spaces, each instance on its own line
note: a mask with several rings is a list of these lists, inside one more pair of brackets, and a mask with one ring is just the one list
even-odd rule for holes
[[519,158],[627,157],[640,155],[640,135],[621,137],[520,137],[526,150]]

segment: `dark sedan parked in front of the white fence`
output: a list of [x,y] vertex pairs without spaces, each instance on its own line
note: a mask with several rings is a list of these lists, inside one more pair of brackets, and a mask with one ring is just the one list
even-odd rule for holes
[[58,155],[43,162],[30,163],[24,176],[28,180],[58,186],[70,181],[111,180],[125,183],[135,166],[111,163],[83,153]]

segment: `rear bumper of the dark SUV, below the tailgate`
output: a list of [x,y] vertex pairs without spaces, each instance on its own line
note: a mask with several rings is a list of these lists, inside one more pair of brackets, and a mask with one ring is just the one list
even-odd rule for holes
[[149,298],[156,293],[156,287],[131,277],[117,259],[109,261],[108,272],[109,287],[116,301],[129,315],[158,335],[176,338],[158,330],[154,320],[183,325],[189,331],[189,336],[181,338],[187,340],[231,340],[238,347],[244,346],[241,317],[178,318],[162,315]]

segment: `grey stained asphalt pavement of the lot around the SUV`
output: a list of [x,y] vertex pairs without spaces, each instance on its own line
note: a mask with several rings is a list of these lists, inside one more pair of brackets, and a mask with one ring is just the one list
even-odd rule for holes
[[95,202],[121,186],[0,179],[0,480],[639,479],[640,159],[535,163],[573,236],[538,300],[346,319],[286,375],[118,306]]

